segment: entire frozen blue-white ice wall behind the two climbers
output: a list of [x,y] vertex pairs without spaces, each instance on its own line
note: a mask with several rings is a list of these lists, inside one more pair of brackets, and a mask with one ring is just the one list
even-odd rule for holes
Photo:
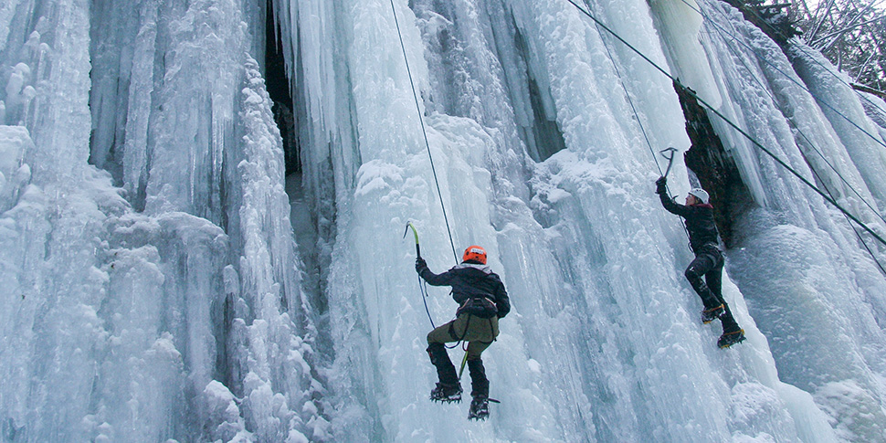
[[[886,230],[878,144],[820,103],[878,129],[822,60],[713,0],[580,4]],[[0,123],[0,440],[884,438],[886,280],[852,228],[714,119],[746,188],[723,290],[748,335],[717,349],[652,193],[658,151],[690,144],[677,95],[568,2],[9,0]],[[427,401],[425,335],[456,306],[432,288],[428,319],[407,221],[431,269],[451,232],[511,293],[488,422]]]

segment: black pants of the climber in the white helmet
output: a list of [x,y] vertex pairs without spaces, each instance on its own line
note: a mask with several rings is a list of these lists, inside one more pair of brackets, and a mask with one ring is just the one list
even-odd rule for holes
[[[686,268],[686,280],[701,297],[704,309],[723,305],[723,332],[736,332],[741,328],[735,322],[729,304],[723,299],[723,252],[716,245],[704,245],[695,251],[695,259]],[[703,278],[703,280],[702,280]]]

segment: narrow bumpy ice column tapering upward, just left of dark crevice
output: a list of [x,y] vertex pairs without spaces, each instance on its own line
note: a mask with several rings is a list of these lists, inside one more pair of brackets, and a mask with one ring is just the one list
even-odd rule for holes
[[[290,206],[283,189],[280,132],[258,63],[249,58],[238,97],[237,134],[242,147],[227,176],[230,227],[237,237],[240,292],[229,300],[236,309],[231,333],[231,386],[245,398],[242,409],[256,437],[320,438],[321,385],[311,373],[317,332],[314,313],[301,291],[301,263],[291,235]],[[239,300],[237,300],[239,299]]]

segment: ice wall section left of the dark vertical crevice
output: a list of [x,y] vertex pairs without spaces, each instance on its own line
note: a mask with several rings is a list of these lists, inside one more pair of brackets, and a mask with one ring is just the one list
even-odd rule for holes
[[3,441],[325,435],[263,14],[0,8]]

